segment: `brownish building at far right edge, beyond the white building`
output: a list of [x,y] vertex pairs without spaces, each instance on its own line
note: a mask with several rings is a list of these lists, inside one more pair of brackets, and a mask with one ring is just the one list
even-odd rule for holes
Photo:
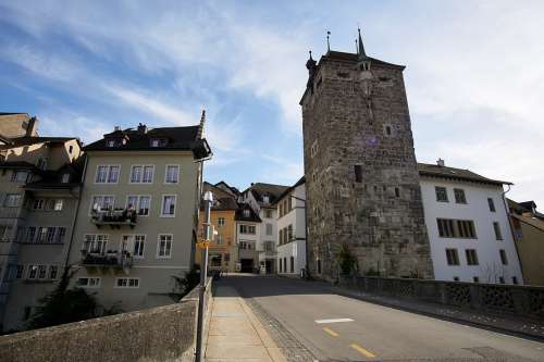
[[533,201],[507,200],[523,280],[544,285],[544,214]]

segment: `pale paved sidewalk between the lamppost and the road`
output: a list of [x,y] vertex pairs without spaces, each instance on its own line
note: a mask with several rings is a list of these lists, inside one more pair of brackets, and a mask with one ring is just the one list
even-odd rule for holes
[[211,308],[207,362],[287,362],[234,288],[218,286]]

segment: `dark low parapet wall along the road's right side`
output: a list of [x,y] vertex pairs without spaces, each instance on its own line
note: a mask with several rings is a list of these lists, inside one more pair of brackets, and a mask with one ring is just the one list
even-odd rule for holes
[[373,276],[341,277],[339,284],[379,296],[544,319],[544,287]]

